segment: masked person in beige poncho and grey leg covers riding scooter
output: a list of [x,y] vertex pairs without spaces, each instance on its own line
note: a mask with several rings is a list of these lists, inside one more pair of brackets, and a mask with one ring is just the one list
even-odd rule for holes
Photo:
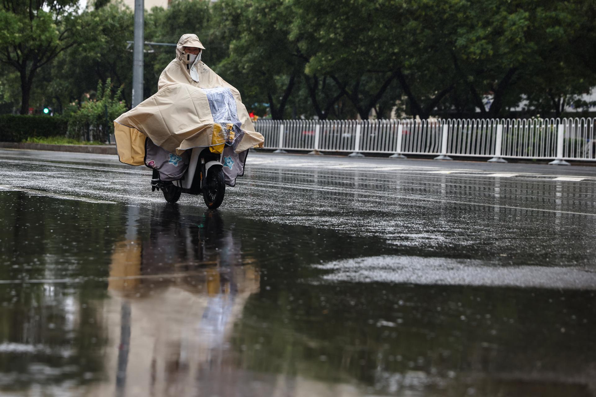
[[[160,189],[161,182],[185,178],[193,161],[189,149],[194,148],[208,148],[218,155],[225,184],[233,187],[236,177],[244,173],[247,150],[263,145],[263,136],[254,131],[240,93],[201,61],[203,49],[196,35],[182,35],[176,58],[160,76],[157,93],[114,120],[120,161],[145,164],[156,171],[151,183],[154,189]],[[201,159],[213,161],[207,157]],[[200,177],[208,176],[208,168],[205,173]],[[198,194],[190,188],[194,170],[189,174],[185,183],[173,183],[179,187],[177,195],[170,196],[173,201],[180,191]]]

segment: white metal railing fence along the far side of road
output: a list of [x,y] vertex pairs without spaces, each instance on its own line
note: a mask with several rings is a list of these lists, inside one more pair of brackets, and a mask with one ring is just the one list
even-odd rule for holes
[[596,118],[258,120],[255,129],[277,151],[596,161]]

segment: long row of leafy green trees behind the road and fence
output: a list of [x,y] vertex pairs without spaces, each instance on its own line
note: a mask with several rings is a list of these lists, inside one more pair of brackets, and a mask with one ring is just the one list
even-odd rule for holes
[[[1,112],[60,113],[108,79],[130,104],[132,10],[78,7],[2,1]],[[592,0],[174,0],[146,12],[145,40],[183,33],[200,37],[203,60],[247,108],[272,118],[558,117],[596,105],[580,98],[596,86]],[[145,98],[175,56],[154,50]]]

